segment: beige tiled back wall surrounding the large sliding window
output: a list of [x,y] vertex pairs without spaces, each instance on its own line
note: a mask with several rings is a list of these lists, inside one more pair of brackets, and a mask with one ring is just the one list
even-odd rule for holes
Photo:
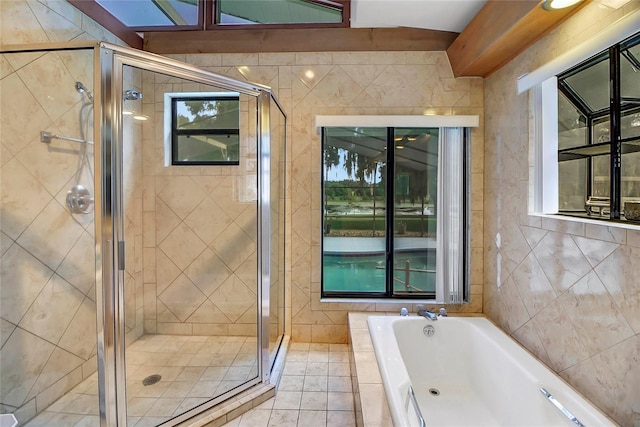
[[[483,83],[454,78],[445,52],[174,55],[194,65],[272,87],[287,125],[287,330],[294,341],[347,342],[347,313],[395,311],[395,304],[320,302],[320,114],[478,114]],[[482,310],[483,129],[472,132],[470,305]],[[452,309],[453,311],[455,309]]]

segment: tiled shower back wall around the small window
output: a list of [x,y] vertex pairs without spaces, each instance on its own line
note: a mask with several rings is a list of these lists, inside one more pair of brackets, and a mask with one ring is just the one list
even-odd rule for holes
[[215,92],[145,72],[144,330],[257,333],[256,99],[240,98],[238,166],[164,166],[164,94]]

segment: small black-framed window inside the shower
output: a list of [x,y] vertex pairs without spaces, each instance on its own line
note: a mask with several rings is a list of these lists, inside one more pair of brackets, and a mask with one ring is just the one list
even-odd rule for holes
[[171,164],[238,165],[240,98],[167,94],[171,105]]

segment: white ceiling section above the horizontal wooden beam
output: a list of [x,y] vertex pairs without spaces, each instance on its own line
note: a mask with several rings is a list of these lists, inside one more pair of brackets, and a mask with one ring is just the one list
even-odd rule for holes
[[351,0],[351,28],[411,27],[461,33],[487,0]]

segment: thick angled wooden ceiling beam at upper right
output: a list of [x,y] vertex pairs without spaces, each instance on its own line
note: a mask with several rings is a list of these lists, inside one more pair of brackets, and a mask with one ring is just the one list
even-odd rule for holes
[[447,49],[456,77],[487,77],[526,50],[589,0],[544,10],[540,0],[489,0]]

